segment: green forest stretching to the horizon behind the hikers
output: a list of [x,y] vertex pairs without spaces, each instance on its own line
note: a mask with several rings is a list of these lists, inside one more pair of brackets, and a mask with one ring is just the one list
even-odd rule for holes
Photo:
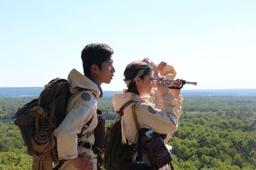
[[[171,138],[175,169],[256,169],[256,96],[183,96],[179,128]],[[34,97],[35,98],[35,97]],[[31,169],[11,116],[33,97],[0,100],[0,169]],[[115,119],[112,98],[99,109]]]

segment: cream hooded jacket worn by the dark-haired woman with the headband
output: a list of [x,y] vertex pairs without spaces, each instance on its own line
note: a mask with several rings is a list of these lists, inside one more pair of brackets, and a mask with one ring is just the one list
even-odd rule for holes
[[[180,99],[182,99],[181,96]],[[136,94],[125,92],[113,95],[115,112],[119,111],[122,105],[129,100],[138,101],[135,104],[135,111],[141,128],[152,129],[159,134],[169,134],[177,130],[182,100],[176,99],[172,94],[167,94],[159,99],[163,105],[162,110],[160,110],[155,108],[150,101],[144,100]],[[121,124],[125,138],[130,143],[136,143],[138,141],[138,131],[133,120],[131,105],[123,111]]]

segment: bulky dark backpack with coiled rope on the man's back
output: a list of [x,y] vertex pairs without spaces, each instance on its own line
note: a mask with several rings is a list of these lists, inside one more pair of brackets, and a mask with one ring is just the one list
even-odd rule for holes
[[[13,117],[14,124],[19,127],[28,155],[33,159],[48,155],[51,161],[57,162],[56,139],[52,132],[67,115],[69,83],[65,79],[56,78],[44,88],[38,99],[18,109]],[[46,143],[50,141],[50,147],[46,148]]]

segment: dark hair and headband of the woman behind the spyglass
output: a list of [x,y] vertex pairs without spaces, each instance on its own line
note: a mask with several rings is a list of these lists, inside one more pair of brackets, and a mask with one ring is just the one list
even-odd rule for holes
[[134,61],[129,63],[126,66],[125,72],[123,75],[125,76],[125,83],[128,89],[125,92],[133,92],[134,94],[139,95],[136,84],[134,82],[134,78],[139,76],[142,80],[152,71],[151,66],[147,65],[147,63],[142,61]]

